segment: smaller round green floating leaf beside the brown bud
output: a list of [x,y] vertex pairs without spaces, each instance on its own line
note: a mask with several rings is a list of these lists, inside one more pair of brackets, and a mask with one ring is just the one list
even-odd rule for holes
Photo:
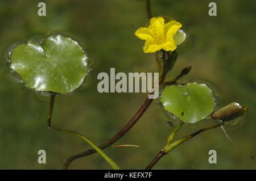
[[165,110],[185,123],[205,119],[214,108],[212,90],[207,85],[199,83],[165,87],[160,102]]

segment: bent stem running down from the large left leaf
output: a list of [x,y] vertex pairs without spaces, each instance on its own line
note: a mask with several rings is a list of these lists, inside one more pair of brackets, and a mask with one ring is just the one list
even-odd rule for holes
[[49,104],[49,111],[48,111],[48,119],[47,119],[47,126],[48,126],[48,128],[49,129],[55,129],[56,131],[72,134],[74,136],[77,136],[77,137],[81,138],[81,140],[86,142],[86,144],[89,144],[90,146],[92,146],[92,148],[94,148],[94,150],[96,150],[101,155],[101,157],[104,158],[105,161],[109,163],[109,165],[113,169],[115,169],[115,170],[120,169],[118,167],[117,163],[115,163],[113,161],[113,159],[109,158],[100,148],[98,148],[95,144],[93,144],[92,141],[90,141],[88,138],[86,138],[82,134],[74,132],[74,131],[70,131],[68,129],[61,129],[61,128],[52,127],[51,120],[52,120],[52,111],[53,111],[53,106],[54,106],[54,100],[55,100],[55,95],[51,95],[51,100],[50,100],[50,104]]

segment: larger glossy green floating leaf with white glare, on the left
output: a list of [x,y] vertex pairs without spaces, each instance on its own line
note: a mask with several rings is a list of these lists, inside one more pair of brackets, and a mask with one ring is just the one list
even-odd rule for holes
[[11,52],[11,69],[35,91],[72,92],[88,74],[88,57],[77,41],[61,35],[28,41]]

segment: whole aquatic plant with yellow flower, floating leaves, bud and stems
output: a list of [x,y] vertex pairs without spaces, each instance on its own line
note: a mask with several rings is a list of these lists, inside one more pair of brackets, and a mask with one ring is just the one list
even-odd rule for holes
[[[151,169],[163,155],[170,153],[171,150],[183,142],[202,132],[222,127],[227,121],[242,116],[247,111],[247,107],[238,103],[231,103],[220,110],[214,111],[216,108],[214,107],[213,90],[207,84],[177,82],[191,71],[191,66],[181,70],[175,78],[166,80],[167,73],[174,69],[177,60],[176,49],[179,49],[179,45],[186,40],[186,34],[180,29],[182,27],[181,23],[176,22],[176,20],[166,16],[152,17],[149,0],[146,0],[146,7],[149,23],[146,27],[138,28],[135,36],[146,40],[143,47],[144,53],[154,53],[155,55],[156,66],[160,73],[159,86],[162,90],[160,102],[163,108],[181,120],[180,125],[168,136],[167,144],[146,167],[146,169]],[[109,158],[102,150],[125,135],[141,118],[153,99],[149,99],[147,96],[141,108],[117,134],[103,144],[96,146],[80,133],[52,127],[55,96],[75,91],[88,74],[88,56],[79,43],[70,37],[51,35],[43,41],[29,40],[26,43],[16,45],[11,50],[9,58],[11,70],[23,81],[24,85],[29,89],[44,94],[47,93],[50,96],[48,128],[77,136],[92,146],[92,149],[68,157],[63,168],[68,169],[75,159],[99,153],[113,169],[119,169],[113,159]],[[216,125],[200,129],[173,141],[175,133],[181,129],[182,125],[204,121],[209,115],[212,119],[218,120]]]

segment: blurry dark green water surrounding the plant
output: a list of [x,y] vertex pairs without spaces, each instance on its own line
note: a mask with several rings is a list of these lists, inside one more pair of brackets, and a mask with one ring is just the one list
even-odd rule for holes
[[[146,94],[100,94],[97,75],[116,72],[154,72],[154,55],[142,51],[134,36],[147,22],[144,1],[44,1],[47,16],[37,14],[40,1],[0,1],[0,169],[61,169],[68,155],[90,148],[76,137],[49,131],[46,125],[49,97],[35,95],[16,81],[6,65],[11,44],[51,32],[68,33],[80,40],[90,55],[91,74],[72,95],[57,96],[53,125],[72,129],[100,144],[129,121]],[[221,129],[200,134],[166,155],[155,169],[256,169],[256,66],[255,1],[214,1],[217,16],[208,15],[211,1],[152,1],[152,14],[181,22],[188,34],[177,49],[179,58],[168,78],[192,65],[181,81],[205,81],[218,97],[218,107],[233,101],[249,112],[226,125],[233,145]],[[122,169],[143,169],[163,148],[173,129],[159,100],[116,144],[140,148],[109,148],[106,153]],[[177,137],[214,124],[207,120],[184,126]],[[38,150],[47,152],[39,165]],[[208,151],[217,151],[217,164],[208,163]],[[71,169],[110,169],[98,154],[79,159]]]

